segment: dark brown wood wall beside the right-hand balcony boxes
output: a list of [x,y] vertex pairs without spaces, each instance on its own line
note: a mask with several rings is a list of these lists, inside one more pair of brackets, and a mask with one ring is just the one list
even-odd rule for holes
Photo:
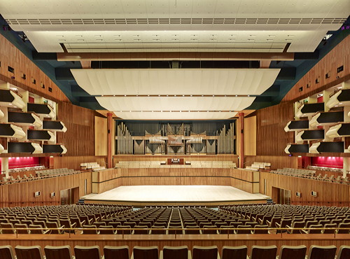
[[293,120],[293,104],[258,110],[256,118],[256,155],[286,155],[284,148],[294,142],[294,134],[283,129],[289,120]]

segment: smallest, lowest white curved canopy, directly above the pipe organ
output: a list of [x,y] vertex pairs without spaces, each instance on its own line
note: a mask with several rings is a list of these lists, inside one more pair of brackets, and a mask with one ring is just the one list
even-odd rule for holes
[[235,117],[235,112],[118,112],[124,120],[225,120]]

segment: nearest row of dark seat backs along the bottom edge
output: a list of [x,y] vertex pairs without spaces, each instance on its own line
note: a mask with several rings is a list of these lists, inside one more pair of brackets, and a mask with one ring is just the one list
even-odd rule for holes
[[[129,246],[45,246],[45,259],[130,259]],[[279,259],[304,259],[307,246],[281,246]],[[349,259],[350,246],[310,246],[307,259]],[[223,246],[221,253],[217,246],[134,246],[132,259],[276,259],[277,246],[252,246],[248,256],[247,246]],[[1,259],[44,259],[41,246],[0,246]],[[15,257],[16,255],[16,257]]]

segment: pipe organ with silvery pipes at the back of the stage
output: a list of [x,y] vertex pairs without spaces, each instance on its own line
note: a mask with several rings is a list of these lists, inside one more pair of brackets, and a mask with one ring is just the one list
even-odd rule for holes
[[[198,133],[202,132],[202,133]],[[116,125],[116,154],[235,154],[235,121]]]

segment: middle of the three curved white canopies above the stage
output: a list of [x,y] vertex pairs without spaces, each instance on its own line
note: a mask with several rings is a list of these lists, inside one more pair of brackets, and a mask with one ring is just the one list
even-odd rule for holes
[[255,97],[97,97],[109,111],[241,111]]

